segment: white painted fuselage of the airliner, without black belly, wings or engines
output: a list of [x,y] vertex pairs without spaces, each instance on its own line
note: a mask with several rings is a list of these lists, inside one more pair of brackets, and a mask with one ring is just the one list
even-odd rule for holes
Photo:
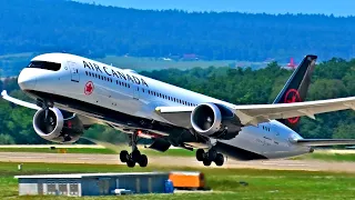
[[[173,123],[161,118],[156,107],[195,107],[204,102],[234,104],[190,90],[143,77],[132,70],[114,68],[98,61],[65,53],[36,57],[34,61],[61,63],[59,71],[26,68],[19,82],[23,90],[36,90],[69,97],[126,114]],[[91,83],[88,83],[91,81]],[[21,86],[21,84],[20,84]],[[262,154],[268,159],[293,157],[310,152],[290,138],[301,138],[278,121],[244,127],[234,139],[219,140],[233,147]]]

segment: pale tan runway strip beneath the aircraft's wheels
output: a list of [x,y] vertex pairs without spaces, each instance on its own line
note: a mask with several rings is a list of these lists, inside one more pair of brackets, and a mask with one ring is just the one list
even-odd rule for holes
[[[118,154],[80,154],[80,153],[29,153],[0,152],[0,162],[49,162],[49,163],[91,163],[91,164],[125,164],[120,162]],[[149,157],[149,166],[165,167],[202,167],[187,157]],[[214,163],[209,168],[233,169],[273,169],[273,170],[306,170],[334,171],[355,173],[355,162],[325,162],[314,160],[266,160],[266,161],[235,161],[226,160],[223,167]]]

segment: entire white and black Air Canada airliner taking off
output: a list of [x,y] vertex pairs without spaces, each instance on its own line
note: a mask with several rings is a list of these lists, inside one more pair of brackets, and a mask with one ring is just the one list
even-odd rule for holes
[[2,91],[3,99],[37,110],[34,131],[45,140],[73,143],[95,123],[129,136],[131,151],[121,162],[148,166],[138,149],[140,138],[164,152],[178,147],[196,149],[204,166],[236,160],[278,159],[313,152],[317,146],[355,144],[351,139],[304,139],[297,133],[301,117],[355,110],[355,97],[304,101],[316,63],[304,57],[272,104],[232,104],[68,53],[33,58],[18,83],[34,102]]

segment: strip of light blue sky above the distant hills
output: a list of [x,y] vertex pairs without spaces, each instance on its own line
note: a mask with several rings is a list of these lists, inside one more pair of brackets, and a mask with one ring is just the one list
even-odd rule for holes
[[355,16],[355,0],[75,0],[135,9]]

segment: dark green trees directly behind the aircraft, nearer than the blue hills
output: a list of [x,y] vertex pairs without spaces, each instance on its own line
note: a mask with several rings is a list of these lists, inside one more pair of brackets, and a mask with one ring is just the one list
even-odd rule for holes
[[[194,68],[141,72],[141,74],[204,93],[236,104],[272,103],[292,71],[277,62],[266,68]],[[0,81],[13,97],[32,101],[18,87],[16,79]],[[306,100],[323,100],[355,96],[355,59],[331,59],[317,64]],[[48,143],[32,128],[34,111],[13,106],[0,99],[0,143]],[[304,138],[353,138],[355,139],[355,112],[337,111],[316,116],[316,120],[303,117],[301,134]],[[110,127],[93,126],[84,136],[104,141],[125,141],[125,136]],[[85,142],[81,140],[80,142]]]

